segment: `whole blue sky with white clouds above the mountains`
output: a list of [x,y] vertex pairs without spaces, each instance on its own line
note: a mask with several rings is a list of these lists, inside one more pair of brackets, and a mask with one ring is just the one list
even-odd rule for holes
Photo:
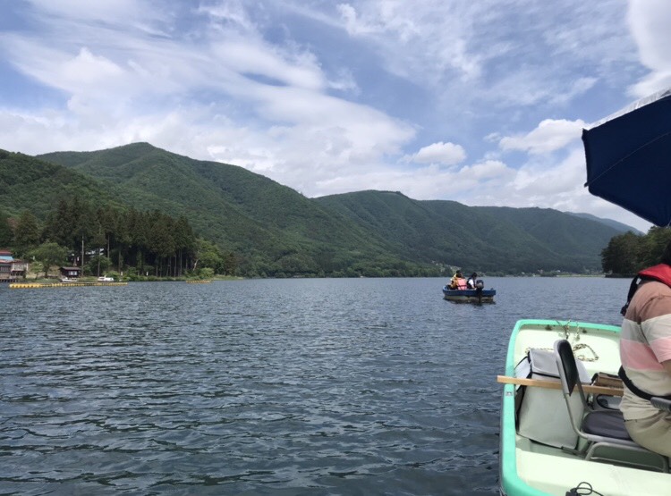
[[667,0],[0,0],[0,148],[145,141],[309,198],[590,196],[582,129],[671,87]]

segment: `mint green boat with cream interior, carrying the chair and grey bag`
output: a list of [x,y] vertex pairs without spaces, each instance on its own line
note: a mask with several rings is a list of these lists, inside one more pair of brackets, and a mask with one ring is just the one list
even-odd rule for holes
[[[499,459],[502,495],[671,494],[667,458],[636,445],[630,448],[618,442],[594,443],[578,432],[582,430],[580,423],[587,411],[585,408],[612,410],[613,417],[619,415],[619,396],[612,392],[615,389],[599,394],[603,392],[599,387],[588,385],[594,374],[617,373],[619,336],[619,327],[607,324],[553,320],[521,320],[515,324],[505,360],[505,376],[498,378],[500,383],[505,383]],[[583,407],[577,387],[573,394],[565,394],[568,389],[565,383],[558,377],[544,375],[538,365],[538,374],[521,371],[533,361],[528,358],[530,349],[535,350],[534,356],[543,354],[548,360],[549,357],[559,360],[555,348],[558,340],[568,341],[578,362],[576,365],[581,367],[587,407]],[[562,363],[561,360],[554,363],[556,375]],[[544,385],[519,384],[523,382],[522,377],[530,375],[528,383],[536,377],[540,378],[538,383]],[[589,377],[587,382],[582,379],[583,375]],[[572,421],[572,418],[577,420]],[[577,429],[573,428],[575,422]],[[590,450],[586,450],[588,446]]]

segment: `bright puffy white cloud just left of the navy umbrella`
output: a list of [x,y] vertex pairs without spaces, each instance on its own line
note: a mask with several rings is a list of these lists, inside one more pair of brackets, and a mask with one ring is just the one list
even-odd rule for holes
[[554,152],[579,139],[585,122],[546,119],[535,130],[522,135],[501,138],[503,150],[522,150],[531,154]]

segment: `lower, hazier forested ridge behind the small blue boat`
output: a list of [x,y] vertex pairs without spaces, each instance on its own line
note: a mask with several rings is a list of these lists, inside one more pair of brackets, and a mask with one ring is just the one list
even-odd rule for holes
[[393,237],[404,256],[480,271],[599,270],[601,249],[619,234],[550,209],[463,206],[382,191],[317,201],[380,236]]

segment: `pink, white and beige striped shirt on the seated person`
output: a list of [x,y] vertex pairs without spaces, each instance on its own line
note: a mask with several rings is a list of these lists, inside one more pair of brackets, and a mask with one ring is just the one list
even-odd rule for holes
[[[620,359],[636,387],[653,395],[671,394],[671,374],[661,365],[671,360],[671,288],[663,282],[642,282],[634,293],[622,323]],[[620,409],[626,420],[659,413],[626,387]]]

